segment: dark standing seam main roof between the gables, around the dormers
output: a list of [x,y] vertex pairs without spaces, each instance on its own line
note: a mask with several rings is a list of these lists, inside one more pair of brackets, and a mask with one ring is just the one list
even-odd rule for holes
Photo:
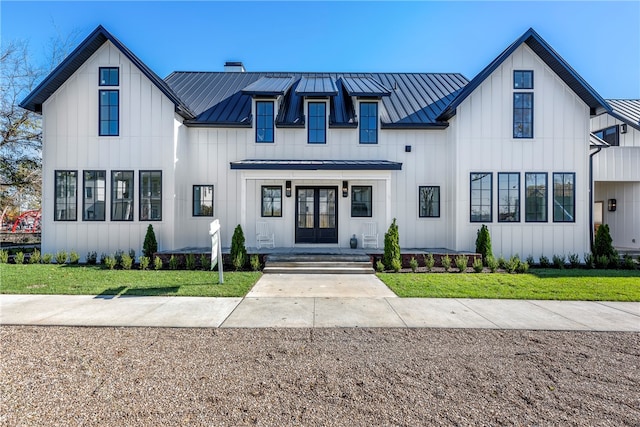
[[[468,83],[458,73],[299,73],[299,72],[174,72],[165,81],[197,116],[194,126],[251,126],[252,95],[243,93],[263,77],[293,78],[285,91],[276,118],[278,127],[304,127],[304,97],[308,89],[298,89],[319,78],[332,81],[330,126],[357,126],[353,102],[344,85],[345,78],[370,79],[389,89],[382,97],[382,128],[442,128],[447,123],[438,115]],[[313,77],[314,79],[303,79]],[[255,86],[253,86],[255,88]],[[314,89],[317,90],[317,89]],[[323,89],[324,90],[324,89]],[[313,92],[319,96],[319,92]],[[311,95],[309,95],[311,96]]]

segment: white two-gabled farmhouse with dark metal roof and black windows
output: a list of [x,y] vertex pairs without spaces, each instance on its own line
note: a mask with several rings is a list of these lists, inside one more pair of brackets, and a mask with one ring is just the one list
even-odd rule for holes
[[[207,247],[214,218],[224,246],[240,224],[255,247],[258,223],[277,247],[348,248],[370,223],[382,245],[396,218],[403,248],[474,251],[486,224],[496,255],[582,255],[623,212],[615,242],[638,247],[637,153],[617,163],[638,117],[533,29],[471,81],[241,63],[163,80],[98,27],[21,105],[43,117],[44,252],[139,251],[149,224],[161,250]],[[606,145],[590,131],[622,124],[620,147],[590,156]],[[618,217],[592,218],[592,159]]]

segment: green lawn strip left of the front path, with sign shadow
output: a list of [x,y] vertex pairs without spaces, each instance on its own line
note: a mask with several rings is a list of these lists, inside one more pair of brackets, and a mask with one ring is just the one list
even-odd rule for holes
[[95,266],[0,265],[0,293],[242,297],[259,272],[103,270]]

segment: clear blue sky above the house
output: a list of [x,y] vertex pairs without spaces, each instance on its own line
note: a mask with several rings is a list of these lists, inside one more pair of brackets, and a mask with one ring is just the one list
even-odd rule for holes
[[473,78],[533,27],[605,98],[640,98],[640,1],[0,2],[2,43],[102,24],[161,77],[171,71],[460,72]]

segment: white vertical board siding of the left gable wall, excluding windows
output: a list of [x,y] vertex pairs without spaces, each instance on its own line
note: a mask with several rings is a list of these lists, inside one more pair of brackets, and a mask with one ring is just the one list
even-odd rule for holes
[[[119,136],[98,136],[98,69],[120,70]],[[42,251],[140,255],[148,224],[159,248],[173,247],[174,104],[110,42],[43,104]],[[55,171],[78,171],[77,220],[54,221]],[[105,221],[82,220],[82,173],[106,172]],[[111,221],[111,171],[134,171],[134,220]],[[162,171],[162,221],[139,221],[139,171]]]

